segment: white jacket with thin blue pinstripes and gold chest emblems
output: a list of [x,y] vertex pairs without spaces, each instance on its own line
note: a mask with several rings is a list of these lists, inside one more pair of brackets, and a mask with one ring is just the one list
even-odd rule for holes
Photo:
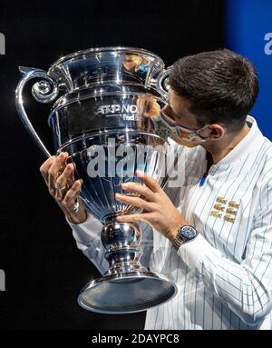
[[[248,116],[250,131],[206,172],[202,146],[179,146],[181,187],[166,193],[198,237],[180,246],[141,223],[141,263],[178,285],[168,303],[147,311],[145,329],[272,329],[272,144]],[[108,269],[102,224],[89,214],[70,224],[77,246],[101,273]]]

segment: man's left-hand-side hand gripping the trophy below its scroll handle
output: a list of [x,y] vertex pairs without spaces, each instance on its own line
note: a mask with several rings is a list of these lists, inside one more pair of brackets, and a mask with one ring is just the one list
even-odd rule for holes
[[60,206],[68,220],[73,224],[81,224],[87,219],[83,204],[79,203],[77,213],[73,211],[77,195],[81,191],[81,180],[74,181],[74,166],[66,164],[67,153],[49,157],[40,167],[49,193]]

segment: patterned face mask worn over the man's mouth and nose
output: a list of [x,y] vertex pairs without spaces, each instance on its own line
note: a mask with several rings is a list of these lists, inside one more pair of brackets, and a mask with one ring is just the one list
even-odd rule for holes
[[170,128],[175,130],[175,134],[177,134],[177,138],[180,140],[180,142],[186,142],[193,145],[195,143],[205,143],[209,139],[209,137],[203,137],[199,134],[199,132],[203,131],[205,128],[208,128],[209,124],[204,125],[204,127],[199,129],[191,129],[189,127],[181,126],[163,112],[160,112],[160,119]]

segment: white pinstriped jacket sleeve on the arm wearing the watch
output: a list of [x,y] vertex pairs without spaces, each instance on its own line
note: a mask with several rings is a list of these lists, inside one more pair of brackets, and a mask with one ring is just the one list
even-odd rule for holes
[[199,234],[178,254],[220,301],[248,325],[261,323],[272,309],[272,179],[258,190],[258,208],[241,263],[222,256]]

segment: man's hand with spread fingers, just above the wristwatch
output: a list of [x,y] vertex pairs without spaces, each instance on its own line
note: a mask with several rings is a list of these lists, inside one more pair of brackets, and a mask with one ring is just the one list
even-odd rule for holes
[[143,208],[142,214],[122,215],[117,217],[120,223],[132,223],[144,221],[151,224],[160,234],[172,242],[180,226],[188,224],[181,216],[178,209],[171,203],[170,198],[160,188],[160,185],[150,175],[137,171],[145,184],[127,183],[121,187],[126,191],[140,194],[140,197],[131,197],[124,194],[116,194],[116,200]]

